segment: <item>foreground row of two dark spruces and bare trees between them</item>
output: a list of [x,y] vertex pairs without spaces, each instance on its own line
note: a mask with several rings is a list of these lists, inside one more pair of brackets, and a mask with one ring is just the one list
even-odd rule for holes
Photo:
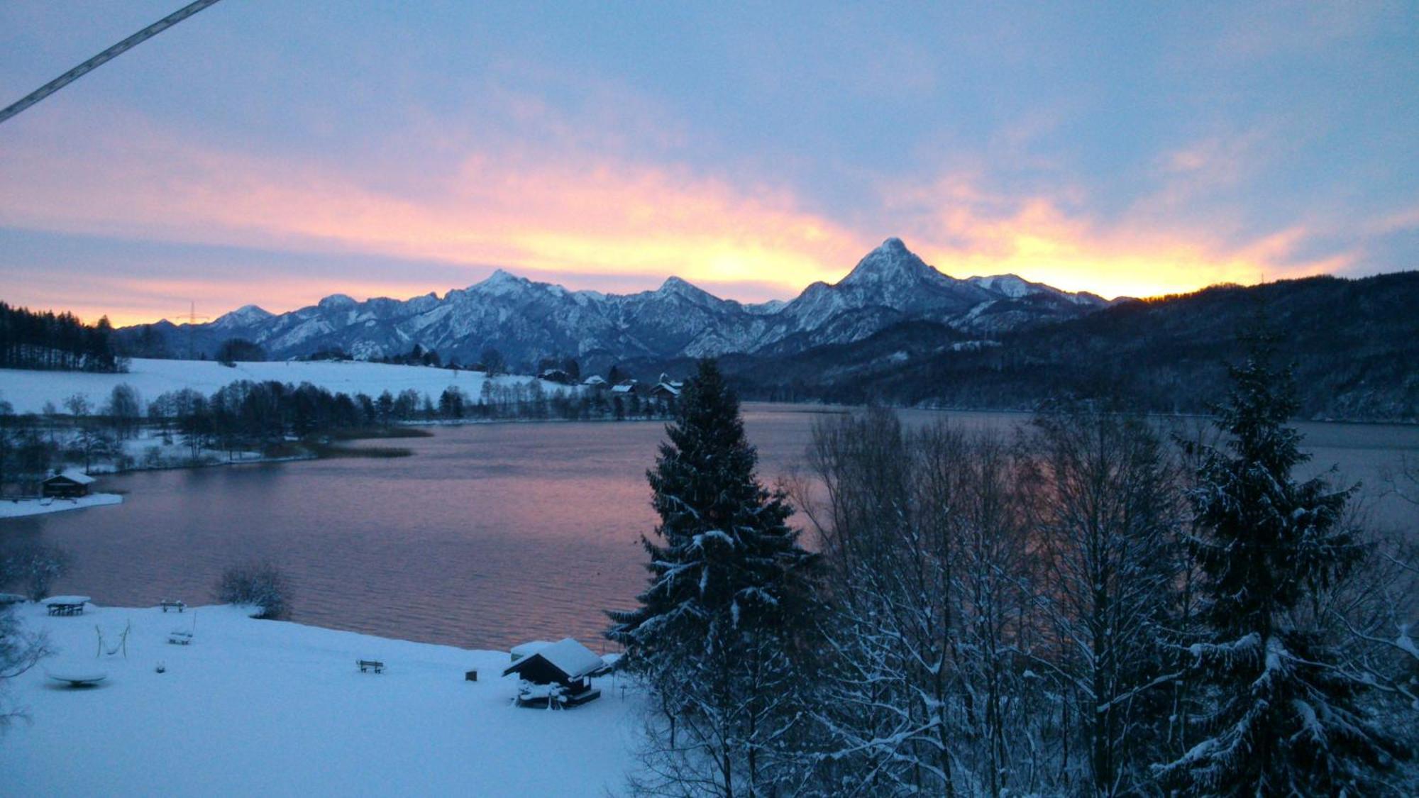
[[1098,406],[824,420],[778,490],[702,364],[648,473],[648,586],[610,613],[651,697],[631,791],[1413,794],[1419,561],[1293,476],[1269,364],[1171,436]]

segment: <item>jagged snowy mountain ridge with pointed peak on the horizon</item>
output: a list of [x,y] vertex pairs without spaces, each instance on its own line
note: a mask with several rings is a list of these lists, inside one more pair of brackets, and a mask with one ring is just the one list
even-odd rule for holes
[[[529,366],[548,355],[572,355],[592,368],[633,358],[697,358],[725,354],[789,355],[860,341],[893,324],[924,319],[978,337],[1077,318],[1108,305],[1016,275],[958,280],[888,239],[843,280],[815,283],[788,302],[741,304],[670,277],[654,291],[570,291],[498,270],[487,280],[438,297],[325,297],[285,314],[245,305],[211,322],[167,321],[119,331],[131,346],[160,338],[172,354],[216,352],[228,338],[247,338],[272,358],[341,349],[356,358],[407,352],[414,344],[446,361],[474,362],[487,346],[509,364]],[[146,328],[146,329],[145,329]]]

